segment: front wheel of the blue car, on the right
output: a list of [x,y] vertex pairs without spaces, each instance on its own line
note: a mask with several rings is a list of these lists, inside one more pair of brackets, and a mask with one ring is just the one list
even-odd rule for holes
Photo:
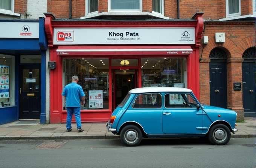
[[225,145],[229,142],[231,133],[226,125],[216,124],[210,128],[208,138],[212,144]]

